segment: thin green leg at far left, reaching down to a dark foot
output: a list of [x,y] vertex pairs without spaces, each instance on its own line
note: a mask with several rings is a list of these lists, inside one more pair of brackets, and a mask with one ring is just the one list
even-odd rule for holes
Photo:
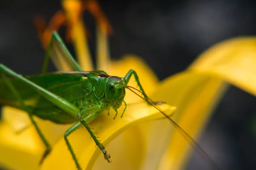
[[0,77],[3,78],[3,81],[9,86],[10,90],[12,91],[12,93],[15,95],[15,97],[17,98],[17,100],[20,102],[23,110],[25,110],[28,115],[30,120],[32,121],[32,124],[34,125],[36,131],[38,132],[38,135],[40,136],[40,138],[42,139],[42,141],[44,142],[44,145],[46,146],[46,150],[44,152],[44,155],[42,156],[41,160],[40,160],[40,164],[42,164],[42,162],[44,161],[44,159],[49,155],[50,151],[51,151],[51,146],[49,144],[49,142],[47,141],[47,139],[45,138],[44,134],[41,132],[40,128],[38,127],[38,124],[36,123],[35,119],[33,118],[32,112],[29,108],[26,107],[26,105],[24,104],[19,92],[15,89],[15,87],[12,85],[11,81],[9,80],[9,78],[5,75],[5,69],[3,69],[2,64],[0,64]]

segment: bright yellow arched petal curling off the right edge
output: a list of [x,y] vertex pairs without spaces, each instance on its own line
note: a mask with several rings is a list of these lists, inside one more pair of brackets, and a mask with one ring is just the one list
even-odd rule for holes
[[208,72],[256,95],[256,38],[239,37],[213,46],[188,68]]

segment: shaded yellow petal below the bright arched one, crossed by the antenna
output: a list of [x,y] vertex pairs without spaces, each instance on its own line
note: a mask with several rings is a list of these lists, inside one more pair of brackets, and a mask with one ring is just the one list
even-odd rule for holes
[[[225,88],[219,78],[198,72],[181,72],[164,80],[151,96],[154,100],[177,106],[172,119],[196,139]],[[180,132],[172,131],[169,137],[169,146],[158,167],[160,170],[181,169],[191,149],[191,141],[186,141]]]

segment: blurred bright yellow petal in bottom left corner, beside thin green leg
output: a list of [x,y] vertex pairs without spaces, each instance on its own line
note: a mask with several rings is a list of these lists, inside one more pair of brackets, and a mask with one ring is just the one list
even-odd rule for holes
[[14,123],[20,124],[23,123],[21,111],[12,107],[3,107],[2,111],[4,117],[0,123],[0,163],[15,170],[37,169],[37,162],[41,157],[41,154],[38,153],[43,153],[44,147],[38,147],[38,145],[43,146],[43,143],[35,128],[31,126],[17,135],[15,133],[16,127],[10,126],[6,115],[8,113],[14,116],[12,125],[15,125]]

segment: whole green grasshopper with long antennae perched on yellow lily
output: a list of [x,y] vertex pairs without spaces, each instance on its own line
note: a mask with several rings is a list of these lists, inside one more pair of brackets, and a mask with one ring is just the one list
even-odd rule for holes
[[[54,53],[54,50],[52,51],[53,47],[58,49],[58,52]],[[16,107],[28,113],[32,124],[35,126],[47,148],[41,158],[41,163],[50,153],[51,147],[34,120],[34,115],[57,124],[71,124],[77,122],[64,134],[64,139],[76,163],[77,169],[81,170],[81,166],[79,165],[67,137],[82,126],[87,129],[96,145],[100,150],[102,150],[104,158],[108,162],[111,162],[110,154],[107,153],[103,144],[100,143],[94,135],[88,126],[88,123],[97,118],[103,110],[109,111],[109,109],[112,108],[116,111],[117,115],[117,109],[122,105],[122,103],[125,104],[126,109],[127,105],[124,101],[125,89],[129,89],[132,92],[134,92],[132,89],[135,89],[127,85],[132,75],[134,75],[137,85],[140,88],[140,90],[135,90],[142,93],[144,100],[156,109],[158,109],[155,106],[157,103],[153,102],[147,95],[145,95],[137,73],[132,69],[124,78],[111,76],[106,72],[99,70],[84,72],[67,50],[57,32],[52,33],[43,70],[46,70],[49,56],[52,55],[52,53],[53,55],[66,57],[76,71],[55,72],[23,77],[9,69],[7,66],[0,64],[0,76],[2,78],[0,80],[0,104]],[[7,77],[6,74],[13,78]],[[137,94],[136,92],[134,93]],[[141,97],[140,95],[138,96]],[[29,102],[32,100],[35,102]],[[122,112],[122,115],[124,114],[125,109]],[[116,118],[116,115],[114,119]],[[163,113],[163,115],[169,118],[165,113]],[[193,140],[181,127],[172,121],[171,118],[169,118],[169,120],[178,130],[180,130],[185,138],[189,138],[189,140],[192,141],[192,146],[197,148],[204,158],[213,165],[213,167],[217,167],[211,158],[209,158],[207,153],[205,153],[204,150],[195,142],[195,140]]]

